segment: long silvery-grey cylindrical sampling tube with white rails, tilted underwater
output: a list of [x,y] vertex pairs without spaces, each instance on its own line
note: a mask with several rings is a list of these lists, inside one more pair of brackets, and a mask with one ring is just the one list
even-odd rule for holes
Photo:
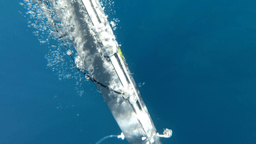
[[157,133],[100,1],[25,0],[25,3],[31,3],[28,13],[47,19],[55,39],[71,41],[78,55],[74,56],[68,47],[65,49],[75,63],[73,67],[95,83],[117,121],[121,135],[104,137],[98,143],[118,137],[131,144],[161,144],[159,137],[171,137],[171,129],[164,129],[163,135]]

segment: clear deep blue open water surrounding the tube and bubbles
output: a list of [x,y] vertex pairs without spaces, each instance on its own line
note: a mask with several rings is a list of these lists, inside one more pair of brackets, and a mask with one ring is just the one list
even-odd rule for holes
[[[49,49],[19,2],[0,6],[0,143],[96,143],[121,133],[93,83],[79,97],[75,80],[47,69]],[[118,0],[115,11],[117,41],[145,82],[155,127],[173,129],[163,143],[256,143],[255,1]]]

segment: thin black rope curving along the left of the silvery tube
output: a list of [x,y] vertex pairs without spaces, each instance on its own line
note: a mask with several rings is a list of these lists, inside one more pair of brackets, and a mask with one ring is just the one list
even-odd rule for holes
[[[47,5],[47,8],[49,9],[49,5],[47,3],[47,1],[44,1]],[[51,15],[51,18],[53,19],[53,15]],[[53,25],[56,27],[56,23],[53,19]],[[56,29],[57,33],[59,33],[58,29]],[[65,37],[67,34],[65,35],[61,35],[55,39],[61,39],[62,37]],[[64,41],[61,39],[61,42],[64,43]],[[67,49],[66,45],[64,45],[65,49],[66,50],[69,50]],[[71,59],[73,60],[73,62],[75,63],[75,59],[72,57],[72,55],[69,55],[71,57]],[[93,83],[97,83],[98,85],[101,85],[101,87],[104,87],[105,89],[108,89],[109,91],[113,91],[114,93],[117,93],[117,94],[124,94],[124,93],[121,93],[119,91],[115,91],[114,89],[111,89],[110,87],[107,87],[107,85],[103,85],[103,83],[100,83],[99,81],[97,81],[96,79],[93,79],[93,77],[91,77],[91,75],[85,73],[84,71],[81,71],[81,69],[79,69],[77,66],[75,66],[75,64],[73,65],[74,68],[77,68],[78,71],[80,71],[81,73],[83,73],[83,75],[85,75],[85,77],[89,78]]]

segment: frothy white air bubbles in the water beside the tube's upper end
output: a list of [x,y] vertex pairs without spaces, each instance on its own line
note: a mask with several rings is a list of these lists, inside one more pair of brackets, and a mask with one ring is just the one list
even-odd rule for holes
[[[27,9],[26,15],[24,15],[27,17],[27,27],[35,29],[33,34],[38,37],[40,43],[47,45],[47,48],[49,49],[49,52],[45,55],[45,58],[48,61],[47,67],[52,69],[52,71],[55,71],[60,80],[75,79],[75,89],[81,96],[84,93],[83,87],[81,86],[85,80],[85,76],[75,69],[74,64],[76,64],[79,69],[87,70],[89,73],[93,73],[94,67],[92,65],[87,65],[87,67],[85,67],[83,63],[83,59],[92,61],[92,55],[81,59],[73,47],[73,37],[81,37],[81,33],[74,31],[75,25],[72,25],[72,22],[68,22],[72,20],[72,13],[70,13],[70,11],[72,11],[75,2],[77,1],[56,1],[53,7],[53,4],[51,5],[49,1],[24,0],[20,5],[23,5],[23,7]],[[78,1],[78,3],[79,2],[81,1]],[[111,27],[115,30],[117,29],[119,19],[113,18],[113,15],[115,15],[113,5],[114,1],[101,1],[101,6],[104,11],[111,15],[109,21]],[[67,11],[67,9],[69,10]],[[59,13],[57,13],[57,11],[59,11]],[[82,11],[81,13],[85,12]],[[60,18],[62,21],[65,19],[67,22],[61,23],[59,21]],[[87,21],[87,23],[89,23],[89,21]],[[84,32],[87,33],[87,31]],[[90,33],[94,32],[90,31]],[[82,44],[80,43],[80,45]],[[75,63],[69,55],[74,57]]]

